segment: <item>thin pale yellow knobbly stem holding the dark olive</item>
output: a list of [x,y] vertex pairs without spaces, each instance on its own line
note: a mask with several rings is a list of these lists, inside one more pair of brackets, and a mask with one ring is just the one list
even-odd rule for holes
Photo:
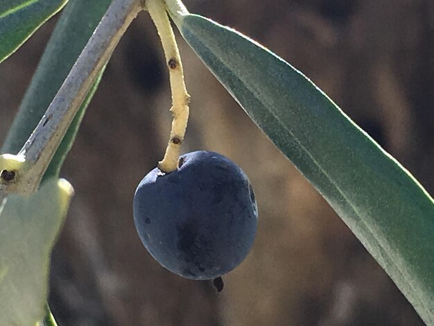
[[171,112],[173,116],[171,137],[168,140],[164,158],[158,163],[161,171],[170,173],[171,171],[175,171],[178,166],[181,145],[182,141],[184,141],[185,130],[189,120],[190,96],[185,87],[180,51],[177,48],[171,22],[168,19],[162,0],[146,0],[145,9],[148,10],[150,17],[153,19],[162,42],[171,84]]

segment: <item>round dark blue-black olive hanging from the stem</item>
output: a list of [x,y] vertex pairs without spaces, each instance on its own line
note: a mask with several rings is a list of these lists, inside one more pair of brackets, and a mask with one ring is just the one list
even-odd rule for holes
[[227,157],[196,151],[171,173],[150,171],[134,194],[134,223],[159,264],[192,280],[210,280],[241,264],[257,232],[247,175]]

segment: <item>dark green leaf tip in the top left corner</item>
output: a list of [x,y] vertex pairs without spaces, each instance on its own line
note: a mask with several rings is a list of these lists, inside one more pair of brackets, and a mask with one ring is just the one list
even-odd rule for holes
[[68,0],[0,0],[0,62],[58,12]]

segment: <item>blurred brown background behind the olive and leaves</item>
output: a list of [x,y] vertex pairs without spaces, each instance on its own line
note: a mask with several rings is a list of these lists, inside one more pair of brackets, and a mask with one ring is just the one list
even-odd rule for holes
[[[434,192],[432,0],[185,0],[302,70]],[[0,139],[53,19],[0,65]],[[392,281],[294,166],[180,40],[191,94],[184,151],[248,173],[259,233],[216,293],[172,275],[141,245],[137,183],[162,158],[171,115],[159,39],[139,15],[113,55],[62,176],[76,189],[53,252],[59,325],[423,325]]]

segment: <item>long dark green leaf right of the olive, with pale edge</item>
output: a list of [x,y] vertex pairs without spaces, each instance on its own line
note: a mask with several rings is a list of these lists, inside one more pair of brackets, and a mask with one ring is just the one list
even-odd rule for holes
[[198,15],[175,21],[220,83],[433,325],[434,202],[419,182],[268,49]]

